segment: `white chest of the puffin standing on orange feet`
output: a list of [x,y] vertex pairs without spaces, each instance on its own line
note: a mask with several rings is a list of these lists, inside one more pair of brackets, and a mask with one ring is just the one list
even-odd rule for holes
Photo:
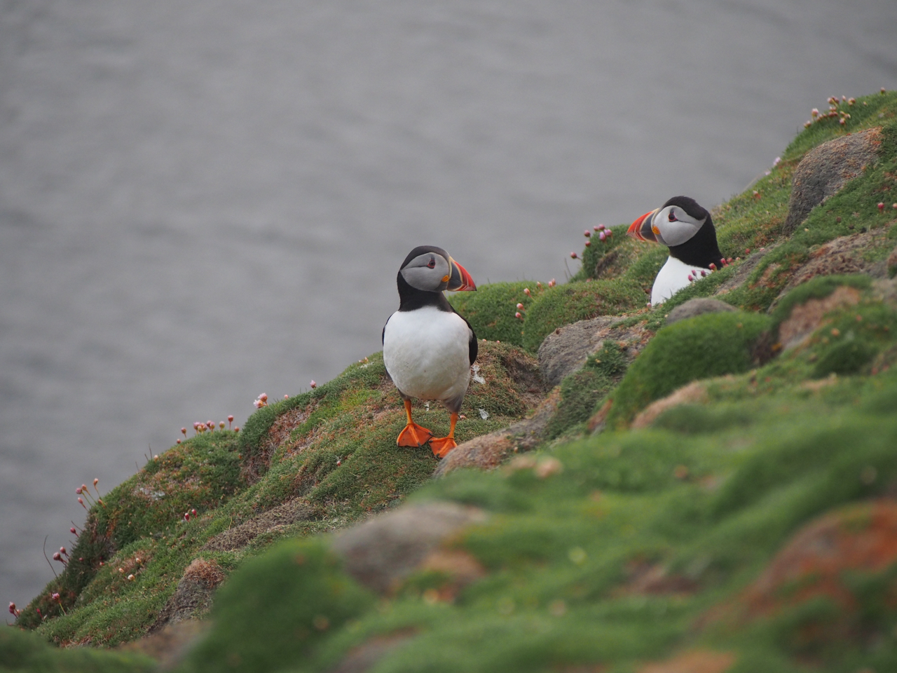
[[456,313],[432,307],[397,310],[383,332],[383,363],[405,395],[454,399],[470,382],[470,337]]

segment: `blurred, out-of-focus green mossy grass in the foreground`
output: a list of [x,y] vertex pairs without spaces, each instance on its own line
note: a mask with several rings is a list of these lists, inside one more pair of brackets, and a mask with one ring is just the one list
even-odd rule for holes
[[[804,397],[781,378],[736,422],[727,394],[714,393],[707,417],[717,420],[696,433],[605,433],[419,491],[416,501],[490,512],[452,542],[487,571],[460,593],[430,573],[365,599],[355,588],[331,590],[350,581],[332,561],[309,563],[309,543],[278,547],[234,575],[213,634],[183,670],[202,669],[204,658],[227,669],[237,657],[245,669],[275,670],[292,656],[292,670],[327,671],[354,648],[391,639],[397,646],[378,671],[623,671],[684,650],[727,652],[735,670],[794,670],[819,652],[814,669],[825,673],[887,669],[897,662],[892,642],[868,648],[866,638],[891,637],[882,588],[893,569],[845,576],[853,616],[799,599],[747,618],[739,611],[745,587],[807,521],[834,508],[862,526],[869,499],[897,480],[897,422],[886,402],[897,398],[897,376],[839,379],[838,395]],[[728,381],[750,385],[748,375]],[[546,460],[562,468],[540,471]],[[317,547],[316,558],[326,550]],[[297,553],[303,564],[293,567]],[[308,599],[289,599],[294,586]],[[315,616],[326,629],[309,628]],[[861,619],[866,635],[840,628],[845,619]],[[284,625],[308,642],[284,637]],[[828,629],[824,638],[814,625]]]

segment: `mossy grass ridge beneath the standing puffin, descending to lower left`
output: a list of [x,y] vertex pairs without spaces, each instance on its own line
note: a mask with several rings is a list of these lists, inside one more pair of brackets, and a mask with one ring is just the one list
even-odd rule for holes
[[[482,342],[477,366],[483,382],[468,390],[458,441],[525,415],[538,381],[535,361],[509,344]],[[414,414],[438,436],[448,433],[441,406],[416,404]],[[202,433],[172,447],[91,508],[65,572],[19,624],[58,644],[131,641],[146,633],[198,556],[231,572],[279,538],[327,532],[401,502],[438,463],[429,447],[396,447],[404,425],[402,400],[381,354],[373,354],[318,389],[263,406],[240,433]],[[304,520],[266,530],[234,552],[203,550],[216,535],[296,498]]]

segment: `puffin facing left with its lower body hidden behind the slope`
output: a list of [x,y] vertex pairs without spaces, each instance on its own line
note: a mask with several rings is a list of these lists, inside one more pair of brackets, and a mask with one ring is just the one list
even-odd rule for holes
[[699,273],[706,275],[727,264],[710,213],[690,197],[671,198],[631,223],[626,233],[636,240],[665,245],[670,251],[651,287],[651,306],[666,302]]

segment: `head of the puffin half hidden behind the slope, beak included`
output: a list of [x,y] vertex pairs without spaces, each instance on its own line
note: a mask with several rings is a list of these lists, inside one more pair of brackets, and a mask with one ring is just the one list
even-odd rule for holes
[[710,213],[690,197],[671,198],[631,223],[626,233],[665,245],[670,255],[685,264],[708,268],[722,258]]

